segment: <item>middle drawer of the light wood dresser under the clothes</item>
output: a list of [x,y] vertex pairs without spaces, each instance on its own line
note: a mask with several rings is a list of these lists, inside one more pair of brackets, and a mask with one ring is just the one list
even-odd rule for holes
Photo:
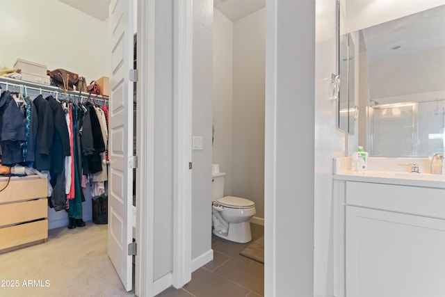
[[47,198],[0,204],[0,227],[47,218],[48,202]]

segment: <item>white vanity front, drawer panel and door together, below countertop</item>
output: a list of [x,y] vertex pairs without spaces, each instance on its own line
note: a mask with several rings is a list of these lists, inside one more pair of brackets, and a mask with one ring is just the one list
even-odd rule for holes
[[345,182],[346,297],[445,296],[445,188]]

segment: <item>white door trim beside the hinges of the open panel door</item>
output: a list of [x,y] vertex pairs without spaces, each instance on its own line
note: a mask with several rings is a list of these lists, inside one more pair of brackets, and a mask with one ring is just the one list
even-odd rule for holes
[[154,296],[154,1],[138,1],[136,296]]

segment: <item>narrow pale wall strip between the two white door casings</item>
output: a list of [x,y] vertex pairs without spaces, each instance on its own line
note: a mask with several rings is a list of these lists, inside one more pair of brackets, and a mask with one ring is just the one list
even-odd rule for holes
[[155,9],[153,278],[157,280],[172,271],[173,261],[173,0],[156,1]]

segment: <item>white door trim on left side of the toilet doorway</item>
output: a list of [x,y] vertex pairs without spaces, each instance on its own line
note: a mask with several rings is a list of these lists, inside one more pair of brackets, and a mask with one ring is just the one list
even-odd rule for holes
[[[175,0],[173,275],[179,289],[191,280],[193,3]],[[191,164],[191,163],[190,163]]]

